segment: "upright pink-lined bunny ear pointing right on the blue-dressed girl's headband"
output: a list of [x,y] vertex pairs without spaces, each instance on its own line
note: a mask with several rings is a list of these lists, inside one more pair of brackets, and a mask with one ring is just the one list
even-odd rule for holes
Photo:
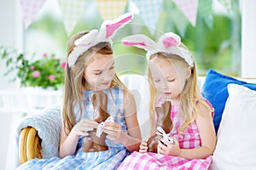
[[105,20],[102,23],[101,30],[106,31],[106,39],[109,37],[113,37],[115,31],[119,30],[119,28],[125,26],[128,22],[133,18],[132,13],[126,13],[119,16],[116,20]]

